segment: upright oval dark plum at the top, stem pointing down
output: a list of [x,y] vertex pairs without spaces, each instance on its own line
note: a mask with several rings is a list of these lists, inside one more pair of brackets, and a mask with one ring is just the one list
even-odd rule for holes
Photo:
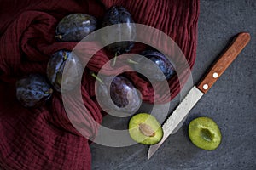
[[[102,42],[108,43],[114,40],[130,39],[136,37],[136,26],[132,20],[131,14],[123,7],[113,6],[108,8],[107,13],[103,17],[102,27],[122,24],[116,29],[108,29],[102,32]],[[109,44],[106,48],[115,54],[124,54],[131,50],[134,46],[132,41],[120,41]]]

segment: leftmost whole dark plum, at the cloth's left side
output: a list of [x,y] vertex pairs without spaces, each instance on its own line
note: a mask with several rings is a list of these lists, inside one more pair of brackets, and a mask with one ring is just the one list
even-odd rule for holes
[[25,107],[38,107],[51,97],[53,89],[46,77],[31,74],[16,82],[16,97]]

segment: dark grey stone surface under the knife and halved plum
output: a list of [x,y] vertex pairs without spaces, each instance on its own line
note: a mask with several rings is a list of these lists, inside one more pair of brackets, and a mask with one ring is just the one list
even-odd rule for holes
[[[93,170],[256,169],[256,1],[201,0],[196,83],[238,32],[247,31],[251,41],[190,111],[177,133],[166,139],[148,161],[148,146],[135,144],[112,148],[90,144]],[[180,96],[171,102],[172,111]],[[143,110],[146,111],[148,105]],[[196,116],[211,117],[223,135],[217,150],[196,148],[189,141],[187,124]],[[129,119],[106,116],[103,125],[125,129]]]

